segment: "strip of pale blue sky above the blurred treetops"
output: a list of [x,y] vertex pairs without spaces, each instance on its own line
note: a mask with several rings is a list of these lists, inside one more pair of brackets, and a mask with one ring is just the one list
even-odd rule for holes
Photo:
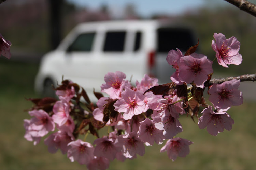
[[122,12],[126,4],[134,4],[136,11],[142,17],[150,17],[152,14],[182,14],[187,10],[193,11],[198,7],[208,6],[232,6],[224,0],[68,0],[79,7],[86,6],[92,10],[101,5],[107,5],[116,11],[115,15]]

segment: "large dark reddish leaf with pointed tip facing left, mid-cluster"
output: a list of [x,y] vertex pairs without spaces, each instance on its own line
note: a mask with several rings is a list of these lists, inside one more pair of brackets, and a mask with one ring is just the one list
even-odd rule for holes
[[144,92],[146,94],[147,92],[153,92],[155,95],[163,95],[162,97],[171,95],[173,91],[176,89],[176,84],[174,82],[162,84],[159,86],[154,86],[148,89]]

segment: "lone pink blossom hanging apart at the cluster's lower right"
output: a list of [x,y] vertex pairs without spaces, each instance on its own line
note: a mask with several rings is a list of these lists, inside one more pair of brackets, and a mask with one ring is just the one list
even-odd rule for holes
[[167,155],[172,161],[176,160],[177,157],[186,157],[189,154],[189,145],[193,142],[183,138],[169,139],[165,146],[163,146],[160,152],[167,151]]

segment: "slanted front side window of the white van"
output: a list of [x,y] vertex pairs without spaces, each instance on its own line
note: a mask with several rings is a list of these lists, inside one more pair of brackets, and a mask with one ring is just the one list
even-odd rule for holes
[[68,51],[91,51],[95,33],[80,34],[69,46]]

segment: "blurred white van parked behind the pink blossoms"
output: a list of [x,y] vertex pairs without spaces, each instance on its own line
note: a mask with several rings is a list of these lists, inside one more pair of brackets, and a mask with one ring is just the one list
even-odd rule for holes
[[45,96],[62,76],[81,85],[91,101],[101,91],[104,75],[122,71],[135,84],[144,74],[170,82],[175,71],[166,61],[168,51],[185,52],[197,43],[193,31],[160,20],[101,21],[76,26],[59,47],[41,61],[35,90]]

